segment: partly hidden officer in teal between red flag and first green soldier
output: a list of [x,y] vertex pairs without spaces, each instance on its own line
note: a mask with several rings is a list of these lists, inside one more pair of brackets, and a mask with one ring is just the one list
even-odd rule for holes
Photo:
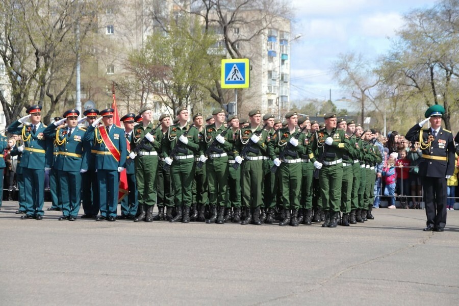
[[[134,113],[129,113],[121,117],[119,121],[123,122],[124,125],[124,137],[126,138],[126,145],[127,145],[127,157],[131,154],[131,142],[133,139],[133,130],[135,124],[135,117]],[[137,199],[137,181],[136,181],[136,171],[135,171],[135,163],[130,163],[129,165],[126,163],[126,178],[127,178],[127,196],[124,196],[121,199],[121,215],[117,217],[117,219],[128,219],[134,220],[136,218],[137,209],[139,207],[139,202]]]

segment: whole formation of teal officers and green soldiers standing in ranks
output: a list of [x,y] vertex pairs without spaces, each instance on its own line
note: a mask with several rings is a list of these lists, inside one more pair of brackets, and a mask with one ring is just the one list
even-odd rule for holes
[[[382,158],[371,130],[353,120],[326,114],[321,125],[289,112],[283,124],[259,110],[240,120],[217,109],[205,124],[202,114],[190,120],[182,107],[174,123],[162,114],[154,125],[151,110],[142,108],[123,116],[121,129],[114,112],[87,110],[79,122],[80,113],[68,110],[45,126],[36,105],[8,127],[23,143],[12,152],[20,160],[21,219],[43,218],[45,169],[48,210],[62,211],[59,220],[76,220],[81,203],[81,218],[97,221],[336,227],[374,218]],[[87,129],[78,126],[83,120]],[[119,189],[122,175],[127,190]]]

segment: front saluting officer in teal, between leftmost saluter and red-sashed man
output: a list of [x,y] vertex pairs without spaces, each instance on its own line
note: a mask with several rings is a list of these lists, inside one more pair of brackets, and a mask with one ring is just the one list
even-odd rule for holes
[[[63,119],[46,127],[44,135],[55,138],[58,155],[54,168],[58,172],[60,198],[62,199],[62,216],[59,220],[74,221],[80,211],[81,172],[87,168],[86,156],[83,156],[83,139],[85,130],[78,127],[78,110],[68,110]],[[67,127],[62,127],[67,122]]]

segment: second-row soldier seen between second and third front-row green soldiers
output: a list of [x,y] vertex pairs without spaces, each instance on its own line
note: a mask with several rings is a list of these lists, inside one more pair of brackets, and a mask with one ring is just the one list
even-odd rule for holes
[[[212,117],[213,118],[213,117]],[[196,113],[193,116],[194,126],[198,130],[199,136],[199,146],[201,149],[204,147],[204,132],[205,132],[205,125],[204,119],[201,113]],[[194,154],[194,159],[196,162],[199,162],[200,151]],[[196,167],[196,171],[194,172],[194,180],[193,180],[193,204],[192,204],[192,214],[190,217],[191,221],[199,221],[204,222],[206,221],[205,218],[205,211],[206,206],[209,205],[209,193],[208,193],[208,180],[207,180],[207,171],[206,171],[206,164],[203,164],[201,168]],[[196,213],[198,210],[198,213]]]

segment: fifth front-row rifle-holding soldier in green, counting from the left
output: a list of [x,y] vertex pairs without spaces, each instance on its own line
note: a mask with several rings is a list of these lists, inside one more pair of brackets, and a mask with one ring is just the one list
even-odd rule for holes
[[[299,197],[301,190],[301,155],[305,154],[304,133],[300,133],[297,128],[298,115],[296,112],[286,114],[287,126],[279,129],[272,136],[268,144],[269,155],[276,165],[279,172],[279,185],[281,186],[283,210],[285,218],[279,225],[298,226],[298,209],[300,208]],[[290,143],[290,145],[288,145]],[[279,159],[279,155],[284,150],[284,157]],[[278,155],[277,155],[278,152]],[[291,214],[290,214],[291,211]]]

